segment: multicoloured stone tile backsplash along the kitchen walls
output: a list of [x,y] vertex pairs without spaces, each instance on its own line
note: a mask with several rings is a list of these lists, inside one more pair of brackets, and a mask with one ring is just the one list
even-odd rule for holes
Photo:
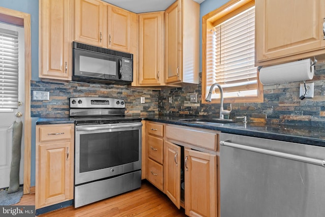
[[[200,73],[201,78],[201,73]],[[299,99],[301,82],[289,82],[264,86],[263,103],[233,103],[230,118],[247,116],[250,121],[266,115],[267,122],[325,127],[325,70],[315,70],[314,98]],[[310,82],[310,81],[308,81]],[[49,101],[31,101],[32,117],[68,117],[69,98],[98,96],[124,99],[126,113],[136,115],[164,114],[177,116],[219,116],[220,104],[201,104],[201,81],[199,85],[163,88],[136,88],[131,86],[88,84],[82,82],[56,83],[31,81],[32,90],[50,92]],[[198,94],[198,103],[190,103],[190,94]],[[145,104],[140,103],[145,97]],[[172,98],[172,103],[169,98]],[[224,107],[228,106],[225,104]]]

